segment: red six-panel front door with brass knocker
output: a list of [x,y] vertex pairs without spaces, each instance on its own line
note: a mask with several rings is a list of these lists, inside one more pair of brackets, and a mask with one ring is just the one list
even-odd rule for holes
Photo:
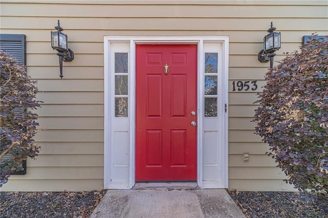
[[196,84],[196,45],[136,46],[136,181],[196,180]]

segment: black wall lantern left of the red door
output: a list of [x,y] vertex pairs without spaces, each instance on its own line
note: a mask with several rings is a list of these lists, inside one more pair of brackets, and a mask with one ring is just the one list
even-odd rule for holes
[[62,33],[64,29],[60,27],[59,19],[58,26],[55,27],[57,31],[51,31],[51,47],[57,51],[59,57],[60,79],[63,79],[63,60],[72,61],[74,59],[74,52],[67,48],[67,35]]

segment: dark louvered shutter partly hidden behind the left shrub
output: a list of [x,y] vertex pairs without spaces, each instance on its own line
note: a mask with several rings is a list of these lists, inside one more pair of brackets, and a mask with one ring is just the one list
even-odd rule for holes
[[[0,34],[0,50],[10,54],[20,64],[26,65],[26,36],[23,34]],[[17,119],[22,119],[23,113],[21,108],[14,110],[18,115]],[[2,161],[9,158],[10,154],[5,155]],[[26,174],[26,161],[23,161],[23,170],[11,173],[12,175]]]

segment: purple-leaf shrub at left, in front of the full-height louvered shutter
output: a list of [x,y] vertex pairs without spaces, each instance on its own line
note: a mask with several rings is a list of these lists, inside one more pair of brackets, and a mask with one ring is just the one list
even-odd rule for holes
[[24,66],[3,51],[0,51],[0,71],[1,187],[10,173],[22,170],[23,160],[34,158],[39,152],[32,139],[38,125],[37,114],[32,111],[40,105],[33,100],[38,92],[36,81],[30,79]]

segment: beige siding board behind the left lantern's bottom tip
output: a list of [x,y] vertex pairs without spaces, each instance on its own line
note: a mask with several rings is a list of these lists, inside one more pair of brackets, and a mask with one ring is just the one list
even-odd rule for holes
[[[27,73],[33,79],[59,79],[59,64],[53,67],[27,67]],[[104,79],[104,67],[77,67],[63,68],[64,79]],[[63,80],[64,80],[63,79]],[[63,81],[61,80],[61,81]]]

